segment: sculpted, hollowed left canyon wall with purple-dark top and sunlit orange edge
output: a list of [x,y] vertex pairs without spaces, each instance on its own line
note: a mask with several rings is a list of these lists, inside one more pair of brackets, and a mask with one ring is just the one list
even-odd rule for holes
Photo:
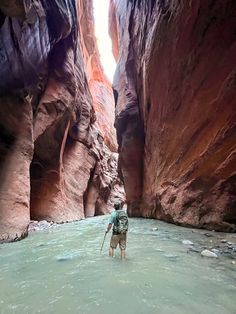
[[0,3],[1,242],[30,218],[77,220],[123,198],[91,12],[91,1]]

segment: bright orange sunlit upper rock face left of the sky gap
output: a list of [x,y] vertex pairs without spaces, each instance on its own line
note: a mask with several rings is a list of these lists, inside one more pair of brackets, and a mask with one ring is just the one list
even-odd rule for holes
[[80,16],[82,51],[87,70],[89,89],[93,97],[93,107],[96,111],[95,125],[100,130],[104,142],[109,149],[117,152],[116,132],[114,128],[114,97],[111,83],[103,72],[99,58],[97,41],[94,36],[92,8],[92,0],[78,1],[78,11],[83,12]]

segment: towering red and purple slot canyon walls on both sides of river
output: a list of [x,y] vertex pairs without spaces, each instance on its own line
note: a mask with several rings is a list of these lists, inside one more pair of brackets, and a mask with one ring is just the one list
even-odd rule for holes
[[110,1],[113,92],[92,1],[0,9],[1,242],[123,183],[129,216],[236,230],[235,1]]

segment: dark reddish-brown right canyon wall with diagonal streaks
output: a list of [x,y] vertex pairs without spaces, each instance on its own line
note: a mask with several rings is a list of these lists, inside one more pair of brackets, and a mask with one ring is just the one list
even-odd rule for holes
[[130,215],[236,230],[235,11],[230,0],[111,0]]

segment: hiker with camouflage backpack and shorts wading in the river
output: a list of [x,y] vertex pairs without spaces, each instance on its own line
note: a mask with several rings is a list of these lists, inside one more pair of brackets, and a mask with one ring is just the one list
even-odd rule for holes
[[111,213],[110,221],[107,226],[106,233],[108,233],[113,225],[109,256],[114,256],[114,250],[117,248],[119,243],[121,259],[125,259],[125,249],[126,249],[126,234],[128,231],[128,216],[123,210],[124,203],[116,203],[114,205],[115,211]]

